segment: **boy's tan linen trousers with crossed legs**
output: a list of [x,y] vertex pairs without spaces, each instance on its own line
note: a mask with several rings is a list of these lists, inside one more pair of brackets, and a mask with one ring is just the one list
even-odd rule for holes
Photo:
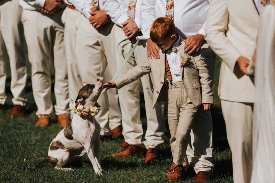
[[173,162],[188,164],[186,149],[198,107],[189,99],[182,82],[166,83],[166,107]]

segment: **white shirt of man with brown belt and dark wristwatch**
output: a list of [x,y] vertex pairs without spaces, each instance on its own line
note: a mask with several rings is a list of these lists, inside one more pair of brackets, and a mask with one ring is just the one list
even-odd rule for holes
[[[76,9],[82,13],[87,19],[91,17],[91,3],[93,0],[70,0],[70,2],[76,7]],[[102,1],[98,0],[98,10],[103,9]]]

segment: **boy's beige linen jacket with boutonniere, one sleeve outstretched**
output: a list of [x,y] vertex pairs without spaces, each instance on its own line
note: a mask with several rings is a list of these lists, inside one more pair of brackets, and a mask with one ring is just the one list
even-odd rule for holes
[[[184,54],[184,44],[185,42],[183,41],[180,43],[180,55]],[[205,59],[200,52],[190,56],[190,58],[184,65],[184,68],[181,67],[182,82],[186,93],[195,106],[200,106],[202,103],[213,104],[212,80],[210,79]],[[155,107],[156,102],[163,101],[165,97],[165,51],[160,51],[160,59],[147,58],[141,65],[137,65],[121,77],[115,79],[115,83],[119,89],[150,72],[152,72],[154,85],[153,104]]]

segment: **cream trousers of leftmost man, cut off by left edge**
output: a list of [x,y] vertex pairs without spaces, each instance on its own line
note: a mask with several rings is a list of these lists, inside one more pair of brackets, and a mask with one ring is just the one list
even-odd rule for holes
[[0,104],[5,104],[6,84],[6,58],[4,47],[6,46],[11,67],[11,93],[14,105],[24,106],[25,87],[27,81],[26,61],[24,58],[22,40],[23,26],[21,23],[22,8],[19,0],[4,1],[0,3]]

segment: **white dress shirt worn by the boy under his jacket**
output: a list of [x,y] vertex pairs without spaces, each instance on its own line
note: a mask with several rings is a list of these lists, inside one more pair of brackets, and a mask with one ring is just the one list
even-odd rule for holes
[[[172,83],[182,82],[181,71],[180,71],[180,37],[178,36],[178,40],[172,45],[177,48],[176,53],[170,51],[166,53],[168,65],[170,67],[170,72],[172,75]],[[167,74],[165,73],[165,78],[167,79]],[[168,79],[167,79],[168,80]]]

